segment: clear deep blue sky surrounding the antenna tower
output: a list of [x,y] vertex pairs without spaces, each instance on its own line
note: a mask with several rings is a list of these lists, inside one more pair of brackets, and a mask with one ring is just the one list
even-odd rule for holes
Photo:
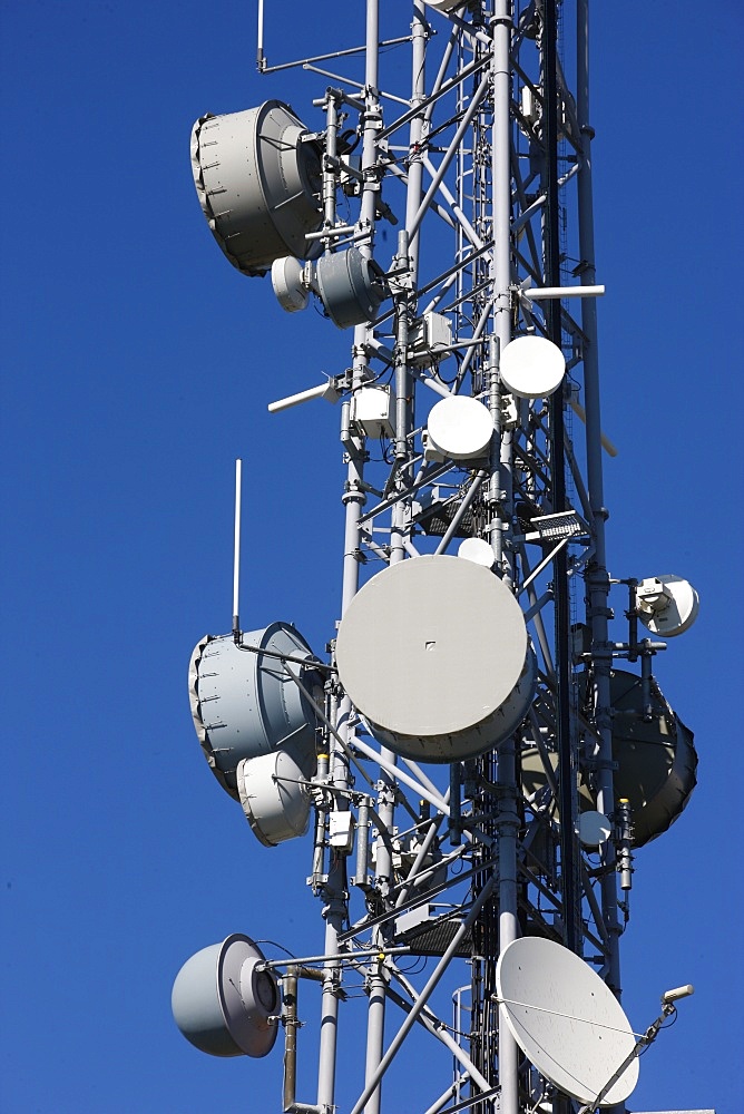
[[[744,18],[733,0],[595,8],[604,423],[620,450],[610,573],[675,571],[701,595],[656,671],[695,731],[699,784],[637,857],[623,950],[634,1027],[667,987],[696,993],[630,1106],[736,1114]],[[361,9],[346,29],[337,4],[311,18],[267,0],[271,60],[360,41]],[[333,633],[337,412],[266,403],[345,367],[347,340],[313,311],[287,317],[268,283],[225,263],[188,137],[205,110],[270,97],[320,127],[323,79],[257,77],[253,4],[2,0],[0,13],[0,1111],[264,1114],[280,1108],[278,1048],[199,1055],[170,986],[232,931],[320,950],[320,910],[306,841],[261,848],[209,775],[186,666],[229,626],[236,456],[244,625],[293,620],[320,652]],[[395,1114],[415,1114],[413,1074],[401,1086]]]

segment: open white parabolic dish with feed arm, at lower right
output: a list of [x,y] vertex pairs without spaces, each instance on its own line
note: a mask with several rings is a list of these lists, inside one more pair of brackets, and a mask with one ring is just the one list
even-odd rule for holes
[[[611,990],[568,948],[539,937],[509,944],[496,987],[515,1040],[559,1091],[594,1102],[633,1052],[636,1039]],[[600,1102],[613,1106],[638,1082],[634,1057]]]

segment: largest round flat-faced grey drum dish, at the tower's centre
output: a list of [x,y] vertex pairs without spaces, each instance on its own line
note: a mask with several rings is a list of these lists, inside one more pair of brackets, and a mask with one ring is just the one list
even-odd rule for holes
[[372,577],[336,643],[342,685],[385,746],[454,762],[517,727],[533,694],[521,609],[489,569],[417,557]]

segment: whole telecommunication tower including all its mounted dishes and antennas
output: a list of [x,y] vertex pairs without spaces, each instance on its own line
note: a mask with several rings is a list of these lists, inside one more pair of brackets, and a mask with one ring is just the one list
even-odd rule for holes
[[[267,100],[194,127],[229,262],[290,313],[315,300],[351,346],[268,408],[337,405],[327,654],[241,625],[238,466],[233,628],[189,672],[213,773],[262,844],[305,840],[321,916],[297,958],[242,934],[199,951],[174,1015],[218,1056],[283,1044],[285,1112],[400,1112],[385,1084],[421,1030],[450,1075],[417,1111],[621,1110],[692,993],[667,991],[640,1038],[618,1001],[636,849],[695,785],[654,661],[698,604],[678,576],[608,571],[588,13],[414,0],[382,26],[366,0],[364,43],[296,62],[319,78],[312,118]],[[284,66],[260,0],[258,69]]]

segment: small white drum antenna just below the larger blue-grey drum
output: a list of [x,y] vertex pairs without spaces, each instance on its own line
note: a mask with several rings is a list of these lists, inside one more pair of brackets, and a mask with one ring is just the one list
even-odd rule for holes
[[245,818],[265,847],[305,834],[310,791],[292,754],[282,750],[244,759],[238,763],[236,780]]

